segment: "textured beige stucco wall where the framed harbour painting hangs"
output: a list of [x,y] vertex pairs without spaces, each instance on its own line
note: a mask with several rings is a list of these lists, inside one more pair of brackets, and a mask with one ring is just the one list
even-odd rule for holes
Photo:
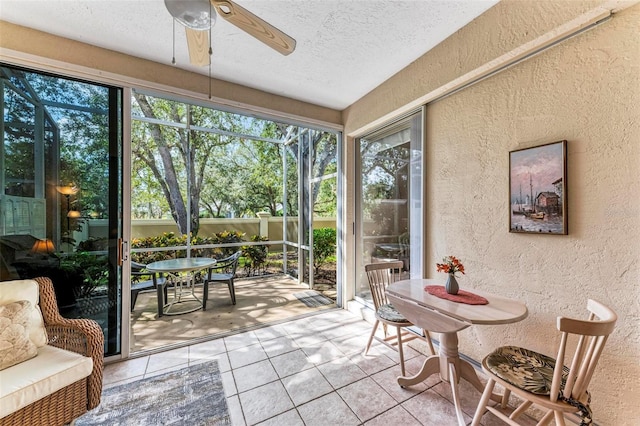
[[[592,4],[501,2],[345,111],[346,131]],[[600,300],[619,322],[592,382],[592,407],[598,424],[612,426],[640,424],[639,28],[634,6],[427,107],[427,275],[438,278],[435,262],[456,255],[467,270],[462,288],[500,293],[529,308],[520,323],[461,332],[461,351],[477,360],[503,344],[550,353],[556,316],[582,316],[587,298]],[[483,51],[485,40],[491,43]],[[509,151],[563,139],[569,235],[509,233]]]

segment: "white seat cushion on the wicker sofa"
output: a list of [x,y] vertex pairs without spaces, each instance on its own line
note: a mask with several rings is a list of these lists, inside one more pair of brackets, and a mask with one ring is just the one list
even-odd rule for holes
[[35,358],[0,371],[0,418],[91,374],[89,357],[45,345]]

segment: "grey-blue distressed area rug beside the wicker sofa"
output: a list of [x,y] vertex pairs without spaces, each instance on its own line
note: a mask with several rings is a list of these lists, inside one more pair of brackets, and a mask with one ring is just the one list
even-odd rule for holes
[[90,425],[231,425],[217,361],[105,389]]

